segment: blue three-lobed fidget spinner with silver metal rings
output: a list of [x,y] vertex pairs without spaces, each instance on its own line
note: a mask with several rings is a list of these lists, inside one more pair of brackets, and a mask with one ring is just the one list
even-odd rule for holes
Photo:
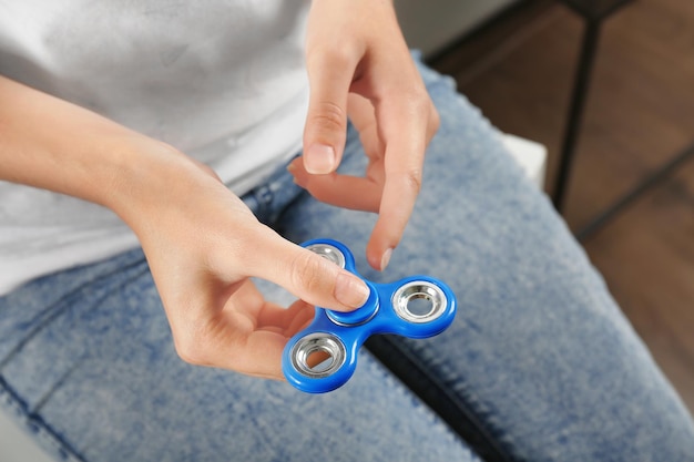
[[[302,245],[361,277],[341,243],[315,239]],[[442,332],[453,321],[456,296],[440,280],[410,276],[391,284],[364,281],[371,294],[360,308],[339,312],[316,307],[313,322],[285,347],[282,370],[297,389],[325,393],[345,384],[357,367],[359,348],[372,333],[421,339]]]

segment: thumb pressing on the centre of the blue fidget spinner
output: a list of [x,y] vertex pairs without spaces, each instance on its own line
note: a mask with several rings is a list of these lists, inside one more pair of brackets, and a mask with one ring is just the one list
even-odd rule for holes
[[264,240],[255,249],[253,276],[277,284],[312,305],[336,311],[351,311],[368,299],[369,287],[355,274],[276,234]]

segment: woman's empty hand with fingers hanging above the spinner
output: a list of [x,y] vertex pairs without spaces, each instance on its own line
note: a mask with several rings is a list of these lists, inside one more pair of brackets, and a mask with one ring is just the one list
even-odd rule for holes
[[[314,0],[306,61],[310,102],[304,156],[289,171],[319,201],[379,214],[367,258],[384,269],[415,206],[438,114],[391,0]],[[335,173],[347,117],[368,156],[364,177]]]

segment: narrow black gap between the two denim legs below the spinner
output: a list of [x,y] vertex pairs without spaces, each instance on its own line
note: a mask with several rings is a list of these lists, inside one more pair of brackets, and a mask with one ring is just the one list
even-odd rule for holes
[[488,425],[478,418],[478,413],[458,394],[450,391],[405,346],[395,341],[390,336],[376,336],[367,340],[366,347],[386,368],[439,414],[481,459],[487,462],[517,461],[504,445],[492,437]]

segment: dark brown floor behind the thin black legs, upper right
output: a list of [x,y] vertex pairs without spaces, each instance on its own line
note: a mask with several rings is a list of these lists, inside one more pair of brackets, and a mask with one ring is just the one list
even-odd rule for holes
[[[528,1],[431,61],[501,130],[548,146],[548,189],[582,31],[580,17],[561,2]],[[568,224],[582,229],[692,144],[694,2],[636,0],[602,28]],[[694,411],[694,158],[583,245]]]

